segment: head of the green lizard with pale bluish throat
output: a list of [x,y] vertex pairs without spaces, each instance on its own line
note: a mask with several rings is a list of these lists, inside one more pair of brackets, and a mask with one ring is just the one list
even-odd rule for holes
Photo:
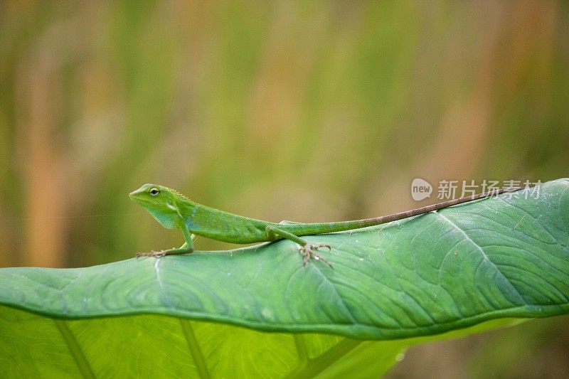
[[129,193],[132,201],[142,205],[164,228],[180,228],[183,223],[179,212],[179,200],[184,198],[171,188],[157,184],[144,184]]

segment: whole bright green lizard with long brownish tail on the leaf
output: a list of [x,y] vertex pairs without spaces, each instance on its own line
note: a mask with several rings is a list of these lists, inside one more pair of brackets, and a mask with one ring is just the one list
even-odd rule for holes
[[181,229],[182,233],[184,233],[184,239],[186,240],[184,245],[177,249],[161,250],[158,252],[139,252],[136,255],[137,257],[164,257],[164,255],[193,252],[193,239],[195,235],[232,243],[270,242],[287,239],[299,244],[299,252],[303,256],[304,265],[306,265],[311,258],[314,258],[332,267],[327,260],[317,254],[318,249],[325,247],[331,250],[331,247],[326,244],[309,243],[301,238],[303,235],[318,235],[340,232],[342,230],[365,228],[367,226],[420,215],[451,205],[466,203],[467,201],[474,201],[487,196],[498,195],[503,192],[518,191],[519,189],[521,188],[501,188],[498,191],[457,198],[443,203],[395,213],[393,215],[367,218],[364,220],[339,221],[336,223],[292,223],[290,221],[270,223],[268,221],[256,220],[255,218],[234,215],[233,213],[194,203],[181,195],[181,193],[156,184],[144,184],[144,186],[137,189],[137,191],[129,193],[129,197],[146,208],[164,228]]

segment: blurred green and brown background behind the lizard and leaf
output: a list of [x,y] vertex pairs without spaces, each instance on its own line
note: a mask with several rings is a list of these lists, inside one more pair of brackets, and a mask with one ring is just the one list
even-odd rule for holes
[[[147,182],[309,222],[437,201],[416,177],[568,176],[566,1],[5,0],[0,26],[0,267],[181,245],[129,201]],[[567,321],[419,346],[392,375],[569,376]]]

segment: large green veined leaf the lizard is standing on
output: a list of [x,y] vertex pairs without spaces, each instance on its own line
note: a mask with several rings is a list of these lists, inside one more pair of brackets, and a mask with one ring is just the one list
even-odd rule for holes
[[413,341],[355,339],[569,310],[566,179],[307,239],[333,247],[334,270],[302,267],[289,241],[0,269],[0,375],[334,376],[353,367],[371,375]]

